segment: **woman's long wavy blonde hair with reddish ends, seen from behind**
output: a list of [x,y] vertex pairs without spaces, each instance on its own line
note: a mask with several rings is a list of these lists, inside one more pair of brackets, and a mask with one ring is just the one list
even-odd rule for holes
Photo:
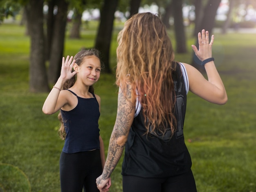
[[124,24],[117,37],[116,84],[126,85],[138,98],[145,118],[146,134],[176,129],[175,92],[172,72],[174,51],[166,27],[158,15],[137,13]]

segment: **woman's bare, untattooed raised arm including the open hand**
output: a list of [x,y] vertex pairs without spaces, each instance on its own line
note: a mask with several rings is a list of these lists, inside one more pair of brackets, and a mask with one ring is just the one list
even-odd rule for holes
[[[213,40],[214,36],[209,42],[208,31],[202,30],[202,33],[198,33],[199,50],[194,45],[192,48],[201,61],[212,57]],[[189,90],[192,93],[211,103],[219,105],[227,103],[227,93],[213,61],[204,65],[208,80],[195,67],[186,63],[184,66],[189,77]]]

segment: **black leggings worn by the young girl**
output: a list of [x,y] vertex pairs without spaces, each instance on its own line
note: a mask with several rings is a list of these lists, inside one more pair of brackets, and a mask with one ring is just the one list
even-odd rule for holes
[[99,150],[67,154],[61,152],[61,192],[99,192],[96,178],[102,173]]

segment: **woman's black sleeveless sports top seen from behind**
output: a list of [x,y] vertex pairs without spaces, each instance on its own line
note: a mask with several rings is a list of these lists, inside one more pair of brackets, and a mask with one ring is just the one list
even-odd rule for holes
[[190,170],[191,158],[183,136],[186,88],[178,63],[176,71],[173,71],[173,81],[176,93],[175,116],[177,119],[174,135],[171,137],[171,128],[167,129],[167,134],[164,137],[161,134],[146,135],[141,109],[138,116],[133,120],[126,142],[122,165],[123,175],[159,178],[182,174]]

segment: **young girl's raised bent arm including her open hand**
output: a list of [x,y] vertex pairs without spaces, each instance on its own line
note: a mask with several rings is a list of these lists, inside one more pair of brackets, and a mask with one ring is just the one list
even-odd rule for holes
[[61,92],[61,88],[63,87],[66,80],[72,78],[76,72],[72,72],[73,65],[75,60],[73,60],[73,56],[67,59],[62,58],[62,66],[61,66],[61,76],[58,78],[56,84],[52,88],[51,92],[47,96],[45,103],[43,104],[42,111],[45,114],[54,114],[57,112],[63,105],[67,104],[67,98],[65,93]]

